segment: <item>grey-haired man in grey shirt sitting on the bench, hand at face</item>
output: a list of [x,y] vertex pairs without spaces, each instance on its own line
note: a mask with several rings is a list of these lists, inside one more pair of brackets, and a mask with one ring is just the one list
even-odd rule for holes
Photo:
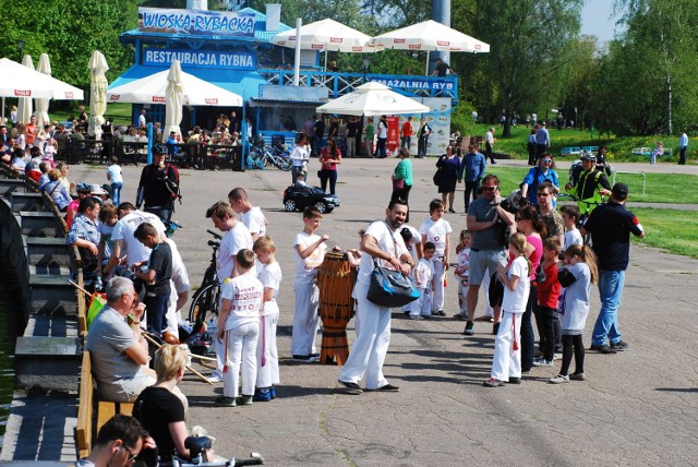
[[148,345],[141,335],[144,311],[131,279],[109,280],[107,304],[92,322],[86,345],[103,400],[133,402],[155,383],[155,372],[147,368]]

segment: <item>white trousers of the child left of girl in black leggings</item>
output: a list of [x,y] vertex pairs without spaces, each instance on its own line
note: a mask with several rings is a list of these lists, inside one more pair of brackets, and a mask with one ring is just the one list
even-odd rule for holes
[[[518,349],[514,350],[514,335]],[[492,378],[508,381],[509,376],[521,378],[521,313],[502,311],[500,332],[494,339]]]

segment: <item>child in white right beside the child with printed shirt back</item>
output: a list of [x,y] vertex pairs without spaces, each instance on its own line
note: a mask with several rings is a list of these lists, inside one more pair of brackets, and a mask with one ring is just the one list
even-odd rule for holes
[[279,384],[279,352],[276,346],[276,326],[279,321],[279,306],[276,296],[281,285],[281,266],[276,262],[276,247],[272,237],[260,237],[254,242],[254,252],[262,264],[257,278],[264,286],[262,323],[257,340],[257,387],[254,402],[276,398],[275,384]]

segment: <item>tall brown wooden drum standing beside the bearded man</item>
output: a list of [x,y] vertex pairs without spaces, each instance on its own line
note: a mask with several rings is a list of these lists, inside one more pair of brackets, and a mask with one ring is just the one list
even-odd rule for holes
[[320,306],[317,314],[323,320],[321,363],[332,364],[336,360],[342,366],[349,357],[347,324],[353,316],[351,290],[357,278],[346,254],[327,253],[317,270]]

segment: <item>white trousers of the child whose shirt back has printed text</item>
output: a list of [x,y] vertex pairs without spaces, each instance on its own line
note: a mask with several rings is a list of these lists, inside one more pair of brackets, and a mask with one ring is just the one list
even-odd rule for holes
[[222,373],[222,394],[238,397],[242,367],[242,394],[254,395],[257,381],[257,337],[260,322],[248,323],[228,331],[228,368]]

